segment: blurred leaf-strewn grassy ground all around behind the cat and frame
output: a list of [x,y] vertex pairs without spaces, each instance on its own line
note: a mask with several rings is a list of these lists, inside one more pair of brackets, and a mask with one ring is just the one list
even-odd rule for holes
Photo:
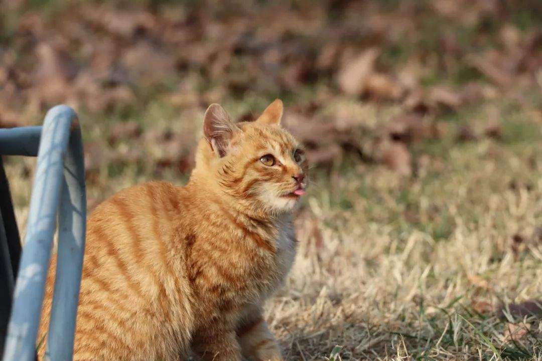
[[288,360],[542,360],[539,0],[0,0],[0,127],[74,107],[89,209],[185,182],[210,103],[276,97],[313,167]]

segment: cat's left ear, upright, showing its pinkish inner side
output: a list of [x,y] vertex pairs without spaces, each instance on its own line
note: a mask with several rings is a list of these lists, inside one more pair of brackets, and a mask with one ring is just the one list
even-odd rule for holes
[[228,154],[231,138],[239,128],[230,120],[224,108],[211,104],[203,116],[203,135],[216,155]]

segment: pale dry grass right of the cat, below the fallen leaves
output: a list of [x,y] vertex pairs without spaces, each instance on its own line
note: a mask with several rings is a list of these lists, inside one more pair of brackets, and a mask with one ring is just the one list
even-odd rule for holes
[[363,165],[317,179],[268,313],[287,359],[542,359],[541,309],[496,312],[542,296],[542,145],[441,151],[414,180]]

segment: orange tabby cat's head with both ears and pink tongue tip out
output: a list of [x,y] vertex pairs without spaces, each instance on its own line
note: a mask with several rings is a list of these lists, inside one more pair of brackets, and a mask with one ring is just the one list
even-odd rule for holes
[[305,194],[308,166],[300,143],[280,126],[281,117],[278,99],[255,121],[240,123],[211,104],[204,116],[196,169],[243,204],[271,213],[292,211]]

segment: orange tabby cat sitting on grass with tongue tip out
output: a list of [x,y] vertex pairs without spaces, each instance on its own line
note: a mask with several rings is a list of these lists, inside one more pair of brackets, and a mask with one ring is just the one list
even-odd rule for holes
[[292,266],[291,212],[305,193],[307,163],[281,116],[275,100],[256,121],[234,124],[212,104],[185,187],[145,183],[96,207],[75,360],[177,361],[190,351],[202,360],[282,360],[262,303]]

